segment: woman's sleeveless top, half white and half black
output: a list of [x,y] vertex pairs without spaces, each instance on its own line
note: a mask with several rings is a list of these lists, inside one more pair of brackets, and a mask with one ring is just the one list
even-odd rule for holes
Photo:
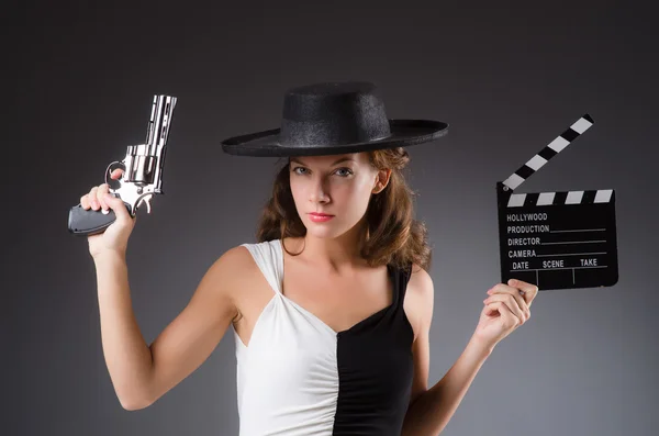
[[391,305],[335,332],[282,294],[281,239],[243,246],[273,293],[248,346],[234,329],[239,435],[400,435],[414,376],[410,271],[388,266]]

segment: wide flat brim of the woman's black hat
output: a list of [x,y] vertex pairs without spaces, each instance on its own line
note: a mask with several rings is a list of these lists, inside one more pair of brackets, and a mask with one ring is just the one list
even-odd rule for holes
[[448,132],[448,124],[432,120],[389,120],[391,135],[377,141],[342,145],[287,146],[279,141],[279,128],[234,136],[222,142],[222,149],[236,156],[286,157],[322,156],[406,147],[435,141]]

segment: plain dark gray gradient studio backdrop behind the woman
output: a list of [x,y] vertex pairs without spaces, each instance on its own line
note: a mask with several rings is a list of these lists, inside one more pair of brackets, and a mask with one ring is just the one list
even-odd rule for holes
[[224,155],[220,141],[276,127],[288,87],[364,79],[382,88],[390,118],[451,124],[445,138],[410,148],[416,213],[435,256],[431,383],[458,358],[499,281],[495,182],[589,112],[595,125],[520,191],[617,193],[619,282],[541,292],[444,434],[656,434],[659,37],[650,7],[99,4],[15,3],[7,15],[0,433],[235,435],[231,335],[150,407],[121,407],[102,356],[93,264],[86,241],[66,231],[68,209],[126,145],[144,141],[153,94],[177,96],[166,194],[141,213],[129,253],[150,343],[222,253],[254,241],[278,163]]

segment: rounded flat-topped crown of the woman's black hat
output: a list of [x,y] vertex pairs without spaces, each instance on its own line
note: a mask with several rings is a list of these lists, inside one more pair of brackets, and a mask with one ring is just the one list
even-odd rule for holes
[[344,145],[390,135],[384,103],[371,82],[321,82],[286,92],[280,128],[282,145]]

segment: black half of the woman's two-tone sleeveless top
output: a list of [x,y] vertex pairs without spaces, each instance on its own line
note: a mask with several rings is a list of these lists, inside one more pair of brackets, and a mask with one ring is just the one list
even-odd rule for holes
[[392,304],[337,336],[336,436],[401,434],[414,377],[414,332],[403,310],[411,270],[388,271]]

